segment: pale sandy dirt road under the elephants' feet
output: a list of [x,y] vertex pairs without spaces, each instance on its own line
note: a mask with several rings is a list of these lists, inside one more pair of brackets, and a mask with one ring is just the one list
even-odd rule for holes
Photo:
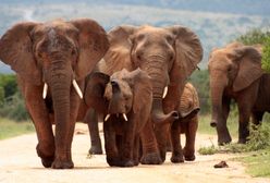
[[[198,135],[197,148],[211,145],[212,136]],[[36,155],[37,139],[35,134],[0,142],[0,182],[2,183],[65,183],[65,182],[98,182],[98,183],[266,183],[270,179],[250,178],[245,174],[241,162],[232,161],[232,155],[200,156],[194,162],[173,164],[170,154],[162,166],[138,166],[135,168],[110,168],[105,155],[87,158],[89,136],[84,124],[76,125],[73,141],[72,170],[45,169]],[[234,155],[235,156],[235,155]],[[213,164],[225,160],[229,168],[214,169]]]

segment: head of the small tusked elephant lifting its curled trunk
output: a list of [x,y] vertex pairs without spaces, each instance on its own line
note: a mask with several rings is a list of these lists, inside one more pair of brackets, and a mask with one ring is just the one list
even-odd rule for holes
[[140,69],[132,72],[123,69],[111,76],[95,72],[87,78],[85,101],[107,114],[105,121],[112,114],[120,114],[127,121],[128,113],[139,113],[145,106],[151,103],[151,91],[150,78]]

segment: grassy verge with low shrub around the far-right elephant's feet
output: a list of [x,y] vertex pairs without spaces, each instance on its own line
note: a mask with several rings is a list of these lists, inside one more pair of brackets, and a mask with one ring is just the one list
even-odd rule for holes
[[[216,130],[209,126],[209,122],[210,115],[200,117],[198,133],[217,134]],[[237,115],[229,118],[228,126],[231,135],[237,137]],[[270,178],[270,115],[263,118],[262,125],[250,127],[250,136],[246,145],[229,144],[219,147],[211,145],[201,147],[198,152],[201,155],[241,152],[241,158],[236,160],[245,163],[248,174]]]

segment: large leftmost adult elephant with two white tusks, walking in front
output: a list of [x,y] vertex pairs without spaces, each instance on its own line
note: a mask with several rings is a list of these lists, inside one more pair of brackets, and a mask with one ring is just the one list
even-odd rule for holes
[[89,19],[19,23],[1,37],[0,59],[16,72],[44,167],[74,167],[71,144],[79,88],[108,47],[106,32]]

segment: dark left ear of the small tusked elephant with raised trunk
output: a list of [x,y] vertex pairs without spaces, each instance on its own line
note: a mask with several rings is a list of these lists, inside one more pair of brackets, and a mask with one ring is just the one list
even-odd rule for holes
[[85,103],[99,112],[107,110],[107,101],[103,97],[106,85],[110,82],[110,76],[101,72],[94,72],[86,77],[84,93]]

